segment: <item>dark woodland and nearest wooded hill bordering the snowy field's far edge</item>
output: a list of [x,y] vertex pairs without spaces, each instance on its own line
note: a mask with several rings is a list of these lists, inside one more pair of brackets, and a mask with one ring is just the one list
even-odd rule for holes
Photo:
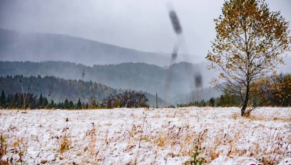
[[[282,73],[273,79],[277,88],[270,90],[270,98],[260,106],[291,106],[291,75]],[[43,88],[45,87],[45,88]],[[47,108],[47,109],[89,109],[89,108],[138,108],[156,107],[156,97],[147,92],[134,90],[113,89],[96,82],[82,80],[65,80],[54,76],[41,77],[40,75],[25,77],[15,75],[0,77],[0,108]],[[5,89],[5,90],[4,90]],[[25,89],[25,90],[24,90]],[[158,97],[158,106],[175,107],[236,107],[242,102],[227,91],[219,97],[201,98],[199,94],[208,94],[211,88],[195,90],[187,95],[180,95],[186,100],[167,103]],[[81,94],[82,93],[82,94]],[[188,99],[187,99],[188,97]],[[131,102],[133,101],[133,102]],[[252,100],[250,104],[254,104]],[[255,104],[254,104],[255,105]]]

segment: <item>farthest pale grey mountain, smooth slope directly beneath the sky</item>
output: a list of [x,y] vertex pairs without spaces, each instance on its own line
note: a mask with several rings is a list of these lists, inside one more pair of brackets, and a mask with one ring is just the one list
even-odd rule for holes
[[[3,61],[61,60],[89,66],[144,62],[168,66],[170,57],[167,53],[143,52],[68,35],[0,29],[0,60]],[[180,61],[183,60],[177,60]]]

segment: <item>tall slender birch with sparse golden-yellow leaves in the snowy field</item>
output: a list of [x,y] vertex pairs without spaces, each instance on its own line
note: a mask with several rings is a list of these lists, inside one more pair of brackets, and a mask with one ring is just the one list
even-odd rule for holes
[[[271,12],[263,0],[225,1],[214,22],[217,35],[206,58],[211,62],[208,69],[220,74],[210,83],[221,91],[232,86],[229,93],[242,102],[244,116],[250,100],[274,85],[270,77],[276,75],[278,64],[284,64],[281,55],[290,51],[289,22],[280,12]],[[251,110],[265,100],[259,99]]]

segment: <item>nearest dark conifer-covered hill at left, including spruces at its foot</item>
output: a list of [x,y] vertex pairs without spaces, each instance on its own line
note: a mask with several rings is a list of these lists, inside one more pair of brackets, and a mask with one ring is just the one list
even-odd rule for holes
[[[41,77],[40,75],[29,77],[23,75],[7,75],[5,77],[1,76],[0,89],[3,89],[3,92],[6,95],[6,101],[4,101],[3,95],[2,102],[9,103],[15,97],[14,102],[19,98],[19,101],[22,105],[23,98],[25,98],[26,104],[30,105],[30,103],[28,103],[28,101],[30,101],[31,104],[35,105],[30,106],[31,108],[40,107],[42,103],[47,105],[47,102],[61,103],[64,101],[65,104],[65,100],[68,100],[69,102],[72,101],[74,103],[81,101],[84,104],[90,104],[90,102],[93,104],[92,101],[100,103],[110,94],[117,95],[122,94],[125,91],[121,88],[113,89],[109,86],[92,81],[88,82],[83,80],[65,80],[54,76]],[[139,91],[139,93],[145,94],[148,99],[147,103],[149,105],[156,103],[156,96],[143,91]],[[37,104],[37,102],[40,103]],[[163,104],[163,100],[160,97],[158,97],[158,104]],[[20,103],[18,105],[20,105]],[[21,108],[19,106],[17,107]],[[73,106],[70,106],[69,108],[73,108]]]

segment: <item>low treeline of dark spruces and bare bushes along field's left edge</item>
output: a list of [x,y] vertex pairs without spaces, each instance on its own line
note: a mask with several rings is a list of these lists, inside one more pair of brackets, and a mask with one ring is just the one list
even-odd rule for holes
[[0,109],[101,109],[101,108],[139,108],[149,107],[145,94],[125,90],[122,94],[112,95],[104,98],[102,102],[92,99],[82,103],[79,98],[76,103],[67,98],[62,102],[48,101],[47,97],[40,94],[15,93],[6,96],[4,90],[0,94]]

